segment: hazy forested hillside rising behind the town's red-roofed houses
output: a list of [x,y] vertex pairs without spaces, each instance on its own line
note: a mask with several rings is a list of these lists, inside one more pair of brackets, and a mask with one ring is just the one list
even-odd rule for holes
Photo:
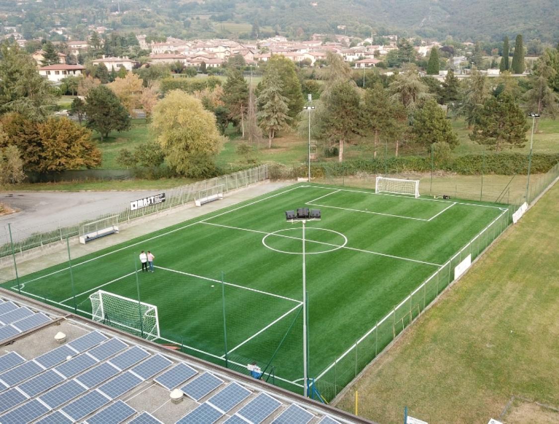
[[4,23],[26,23],[28,32],[60,22],[174,36],[243,31],[248,36],[257,22],[261,34],[277,31],[290,37],[345,31],[462,41],[522,33],[525,40],[559,40],[559,0],[0,0],[0,13],[6,12]]

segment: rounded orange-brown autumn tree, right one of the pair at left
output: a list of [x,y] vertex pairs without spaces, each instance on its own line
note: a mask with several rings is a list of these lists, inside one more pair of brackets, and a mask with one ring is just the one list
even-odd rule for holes
[[41,140],[37,171],[94,168],[101,164],[101,152],[91,141],[91,131],[68,118],[51,117],[37,124]]

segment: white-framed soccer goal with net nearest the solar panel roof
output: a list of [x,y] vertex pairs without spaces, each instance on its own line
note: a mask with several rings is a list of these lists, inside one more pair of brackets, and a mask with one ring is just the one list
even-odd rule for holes
[[157,306],[104,290],[89,295],[93,321],[118,328],[146,340],[159,338]]

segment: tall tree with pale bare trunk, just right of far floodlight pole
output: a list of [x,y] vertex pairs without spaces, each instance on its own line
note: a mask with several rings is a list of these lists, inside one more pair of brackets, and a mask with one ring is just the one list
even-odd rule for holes
[[335,83],[324,103],[324,130],[330,140],[339,143],[338,160],[344,159],[344,144],[352,136],[361,134],[362,115],[359,93],[353,81]]

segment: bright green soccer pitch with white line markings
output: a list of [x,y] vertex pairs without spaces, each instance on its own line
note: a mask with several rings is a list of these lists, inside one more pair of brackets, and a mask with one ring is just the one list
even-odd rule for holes
[[[322,212],[305,234],[309,377],[331,381],[348,349],[393,314],[388,333],[377,327],[374,345],[356,347],[356,369],[334,376],[342,386],[453,280],[463,256],[451,258],[472,239],[467,253],[477,256],[510,212],[506,205],[296,185],[73,258],[71,270],[61,258],[21,277],[21,293],[90,317],[97,290],[141,300],[157,306],[156,341],[245,373],[255,362],[269,381],[301,392],[302,229],[286,222],[285,211],[305,206]],[[490,233],[499,220],[500,230]],[[138,272],[141,250],[154,253],[153,274]],[[416,290],[435,274],[436,293]],[[17,290],[14,281],[4,287]],[[396,313],[408,297],[409,313]]]

